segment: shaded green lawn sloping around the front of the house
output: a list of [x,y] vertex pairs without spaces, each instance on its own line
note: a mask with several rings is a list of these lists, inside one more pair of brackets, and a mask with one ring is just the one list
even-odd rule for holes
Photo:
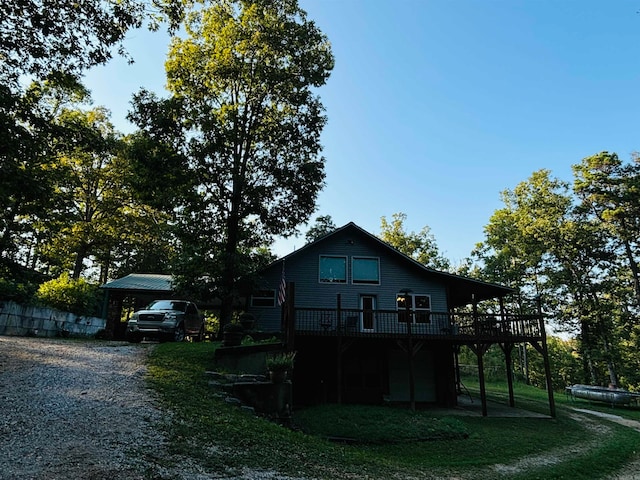
[[[591,479],[610,477],[640,451],[638,432],[608,422],[597,445],[591,445],[593,432],[569,415],[571,404],[563,395],[558,395],[558,416],[553,420],[326,405],[295,412],[304,431],[291,431],[214,395],[204,372],[213,368],[215,347],[208,342],[158,345],[150,357],[149,382],[175,414],[166,426],[171,451],[177,458],[191,456],[217,474],[233,475],[249,467],[327,479]],[[468,386],[473,390],[471,382]],[[506,386],[488,384],[487,390],[505,401]],[[516,385],[516,404],[548,413],[546,393],[532,387]],[[337,444],[326,437],[367,441]],[[506,473],[495,469],[496,464],[512,465],[553,449],[587,444],[588,451],[556,464],[538,462]]]

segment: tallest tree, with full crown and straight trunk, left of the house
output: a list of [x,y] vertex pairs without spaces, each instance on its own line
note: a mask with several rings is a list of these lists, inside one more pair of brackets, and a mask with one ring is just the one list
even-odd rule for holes
[[[166,62],[197,181],[197,198],[180,212],[183,259],[192,279],[213,278],[224,324],[246,254],[293,234],[314,210],[326,122],[315,89],[333,56],[295,0],[220,0],[190,12],[184,27]],[[138,105],[133,116],[150,109]]]

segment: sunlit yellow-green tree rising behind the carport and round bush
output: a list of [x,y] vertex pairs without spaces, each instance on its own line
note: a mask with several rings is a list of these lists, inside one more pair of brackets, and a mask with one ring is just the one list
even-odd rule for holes
[[57,205],[47,226],[52,258],[72,259],[72,278],[88,265],[109,272],[167,272],[173,252],[172,216],[140,187],[132,161],[135,141],[122,138],[104,108],[65,108],[55,124],[66,131],[58,141],[55,167]]

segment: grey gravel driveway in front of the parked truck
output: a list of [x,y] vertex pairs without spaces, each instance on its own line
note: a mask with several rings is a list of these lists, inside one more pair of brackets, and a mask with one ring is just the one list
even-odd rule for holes
[[0,478],[165,477],[151,458],[162,416],[143,381],[152,347],[0,337]]

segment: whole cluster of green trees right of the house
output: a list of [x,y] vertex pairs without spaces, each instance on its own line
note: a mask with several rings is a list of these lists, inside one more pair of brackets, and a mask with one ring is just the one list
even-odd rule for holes
[[629,361],[638,345],[635,165],[607,152],[587,157],[574,166],[573,189],[534,172],[503,193],[474,252],[485,278],[518,289],[516,309],[542,295],[556,327],[576,336],[577,383],[640,382]]

